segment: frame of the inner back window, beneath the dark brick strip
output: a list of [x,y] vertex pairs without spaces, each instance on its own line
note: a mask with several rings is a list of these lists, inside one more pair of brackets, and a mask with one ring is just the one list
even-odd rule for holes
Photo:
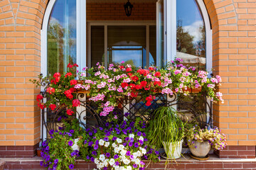
[[154,21],[88,21],[87,23],[87,64],[88,67],[91,65],[91,26],[104,26],[104,56],[105,56],[105,67],[107,68],[107,26],[146,26],[146,67],[149,67],[149,26],[156,26]]

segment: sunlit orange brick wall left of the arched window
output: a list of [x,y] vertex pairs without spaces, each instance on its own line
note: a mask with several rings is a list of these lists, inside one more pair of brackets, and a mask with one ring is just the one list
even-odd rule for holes
[[0,146],[33,146],[40,140],[39,90],[28,80],[41,72],[40,33],[47,3],[0,1]]

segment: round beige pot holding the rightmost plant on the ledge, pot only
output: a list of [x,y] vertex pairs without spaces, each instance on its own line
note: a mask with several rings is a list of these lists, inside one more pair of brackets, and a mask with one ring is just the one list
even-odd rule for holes
[[196,140],[193,140],[193,142],[195,145],[193,147],[189,147],[193,156],[196,156],[198,158],[206,157],[206,155],[210,152],[209,142],[197,142]]

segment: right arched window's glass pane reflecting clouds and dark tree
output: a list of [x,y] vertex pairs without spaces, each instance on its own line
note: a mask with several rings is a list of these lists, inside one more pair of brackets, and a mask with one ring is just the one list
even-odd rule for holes
[[176,0],[177,57],[184,63],[206,69],[206,29],[195,0]]

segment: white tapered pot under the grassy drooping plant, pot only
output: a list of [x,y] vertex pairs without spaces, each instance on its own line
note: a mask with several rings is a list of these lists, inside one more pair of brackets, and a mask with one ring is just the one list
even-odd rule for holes
[[169,150],[168,150],[169,152],[168,153],[166,152],[169,159],[178,159],[181,157],[182,143],[183,143],[183,140],[179,141],[174,147],[171,142],[170,143],[163,142],[165,151],[167,150],[166,148],[169,147]]

